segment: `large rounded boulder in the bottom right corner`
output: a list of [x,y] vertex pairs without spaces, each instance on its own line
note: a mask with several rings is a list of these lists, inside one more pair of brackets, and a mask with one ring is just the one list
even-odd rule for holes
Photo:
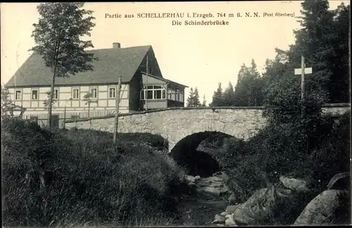
[[[347,203],[348,191],[327,190],[313,198],[294,222],[294,225],[321,225],[332,224],[332,220],[337,215],[337,208],[343,207],[342,203]],[[344,201],[341,198],[346,198]],[[350,213],[346,211],[346,213]],[[339,221],[343,222],[343,221]]]

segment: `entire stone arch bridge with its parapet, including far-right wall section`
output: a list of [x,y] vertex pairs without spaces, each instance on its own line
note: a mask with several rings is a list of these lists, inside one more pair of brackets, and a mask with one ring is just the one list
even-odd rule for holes
[[[172,149],[196,148],[210,134],[221,132],[238,139],[249,139],[267,124],[259,107],[196,107],[166,108],[139,113],[120,114],[118,132],[159,134]],[[327,104],[323,113],[341,115],[351,110],[351,104]],[[67,129],[95,129],[113,132],[114,117],[67,120]]]

